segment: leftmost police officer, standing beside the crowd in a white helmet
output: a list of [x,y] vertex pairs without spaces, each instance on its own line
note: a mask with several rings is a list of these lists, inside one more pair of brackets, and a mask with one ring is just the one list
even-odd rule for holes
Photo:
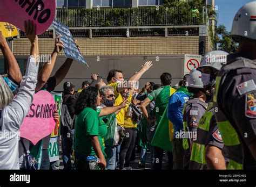
[[186,138],[183,139],[185,149],[183,167],[188,169],[190,164],[190,154],[193,139],[197,138],[197,125],[200,118],[207,109],[206,95],[201,81],[201,72],[193,69],[187,79],[187,89],[193,93],[193,97],[188,100],[183,108],[183,127]]

